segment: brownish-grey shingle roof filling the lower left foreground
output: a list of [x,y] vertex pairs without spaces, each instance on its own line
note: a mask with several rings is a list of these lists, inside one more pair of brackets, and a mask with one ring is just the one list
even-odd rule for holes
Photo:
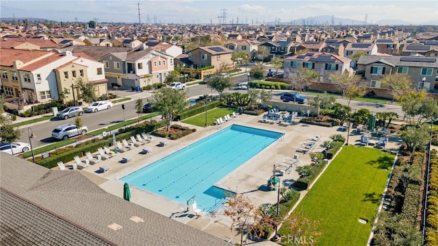
[[[10,208],[0,210],[0,234],[7,245],[230,245],[106,193],[80,171],[49,170],[3,152],[0,159],[0,204]],[[112,223],[122,228],[112,230]]]

